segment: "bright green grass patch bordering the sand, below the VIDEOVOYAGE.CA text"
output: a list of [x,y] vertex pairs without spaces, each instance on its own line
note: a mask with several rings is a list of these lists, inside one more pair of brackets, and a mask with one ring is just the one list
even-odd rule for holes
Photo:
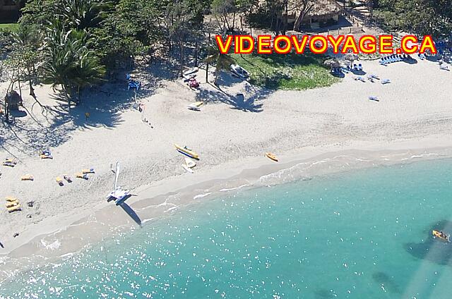
[[326,87],[340,79],[323,66],[326,59],[314,54],[232,54],[251,73],[250,83],[271,89],[307,90]]

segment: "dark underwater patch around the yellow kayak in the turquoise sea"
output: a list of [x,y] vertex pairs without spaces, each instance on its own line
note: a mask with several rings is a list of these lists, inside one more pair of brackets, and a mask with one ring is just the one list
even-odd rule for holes
[[452,243],[446,243],[438,238],[433,238],[432,231],[452,231],[452,222],[441,220],[432,226],[429,226],[425,233],[428,238],[422,243],[406,243],[405,250],[413,257],[419,260],[428,260],[435,264],[449,265],[452,260]]

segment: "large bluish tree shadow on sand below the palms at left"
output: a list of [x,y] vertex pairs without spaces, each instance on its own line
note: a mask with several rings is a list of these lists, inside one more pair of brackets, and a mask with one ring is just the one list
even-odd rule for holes
[[121,123],[122,111],[150,94],[153,90],[126,90],[126,83],[106,84],[85,90],[81,102],[69,107],[65,95],[57,92],[50,97],[58,104],[45,106],[39,115],[32,113],[30,105],[21,108],[28,111],[32,120],[16,117],[10,124],[0,123],[0,147],[31,156],[39,150],[57,147],[68,141],[74,130],[114,128]]

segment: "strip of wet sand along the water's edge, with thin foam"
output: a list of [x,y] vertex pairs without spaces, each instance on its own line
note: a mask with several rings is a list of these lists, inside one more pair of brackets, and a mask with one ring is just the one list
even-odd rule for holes
[[[356,150],[357,144],[342,148],[304,148],[280,155],[280,161],[283,161],[280,163],[265,157],[247,158],[245,161],[248,163],[232,161],[200,171],[196,179],[193,176],[190,178],[190,173],[186,173],[165,178],[152,186],[143,185],[133,190],[133,193],[139,195],[129,198],[126,204],[136,212],[141,224],[145,224],[162,219],[174,210],[202,204],[203,201],[236,192],[240,188],[280,185],[369,167],[452,158],[452,141],[446,142],[446,139],[443,135],[436,139],[436,144],[441,145],[439,147],[422,147],[422,144],[434,144],[432,138],[427,138],[391,142],[389,145],[378,142],[361,144],[359,150]],[[231,164],[235,164],[235,167]],[[230,171],[224,173],[222,169],[225,166]],[[174,186],[178,186],[177,190],[174,190]],[[58,227],[55,228],[55,224]],[[28,238],[23,238],[22,243],[8,248],[8,252],[2,252],[0,281],[28,269],[70,257],[105,238],[114,238],[118,233],[140,226],[120,207],[112,202],[107,203],[106,200],[92,211],[78,211],[70,218],[66,215],[51,217],[28,231]],[[37,260],[40,262],[35,263]],[[21,267],[18,267],[19,264]]]

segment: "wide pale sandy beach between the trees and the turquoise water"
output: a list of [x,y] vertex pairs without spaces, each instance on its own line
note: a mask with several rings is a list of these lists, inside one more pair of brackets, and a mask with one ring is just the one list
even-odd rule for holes
[[[410,161],[422,155],[449,157],[452,73],[431,61],[362,64],[367,74],[391,83],[362,83],[346,74],[331,87],[270,91],[223,74],[221,91],[203,83],[194,92],[181,80],[162,80],[160,87],[149,84],[138,92],[137,103],[125,85],[105,85],[70,110],[55,101],[58,95],[51,87],[37,87],[37,99],[48,108],[43,111],[24,96],[27,111],[11,128],[0,129],[0,158],[18,161],[13,168],[1,167],[0,197],[17,197],[23,207],[21,212],[1,212],[1,261],[65,255],[99,240],[105,231],[138,228],[121,207],[106,200],[116,161],[121,164],[119,185],[136,195],[127,204],[143,223],[209,196],[197,195],[248,185],[302,161],[346,155],[363,157],[371,166],[385,163],[388,155]],[[204,78],[202,70],[198,76]],[[6,87],[0,83],[1,94]],[[28,92],[23,85],[23,94]],[[196,101],[205,102],[200,112],[186,109]],[[99,103],[102,108],[92,108]],[[145,105],[143,114],[138,103]],[[174,143],[200,155],[194,174],[185,173],[184,156]],[[42,149],[51,150],[54,159],[40,159]],[[274,152],[280,162],[264,152]],[[352,164],[342,161],[338,169],[347,163]],[[88,180],[75,178],[89,168],[95,173]],[[34,181],[20,181],[26,173]],[[64,173],[73,183],[59,186],[55,178]],[[309,174],[316,173],[322,171]],[[277,180],[263,183],[271,181]],[[30,201],[33,207],[28,207]],[[13,238],[14,233],[19,236]]]

